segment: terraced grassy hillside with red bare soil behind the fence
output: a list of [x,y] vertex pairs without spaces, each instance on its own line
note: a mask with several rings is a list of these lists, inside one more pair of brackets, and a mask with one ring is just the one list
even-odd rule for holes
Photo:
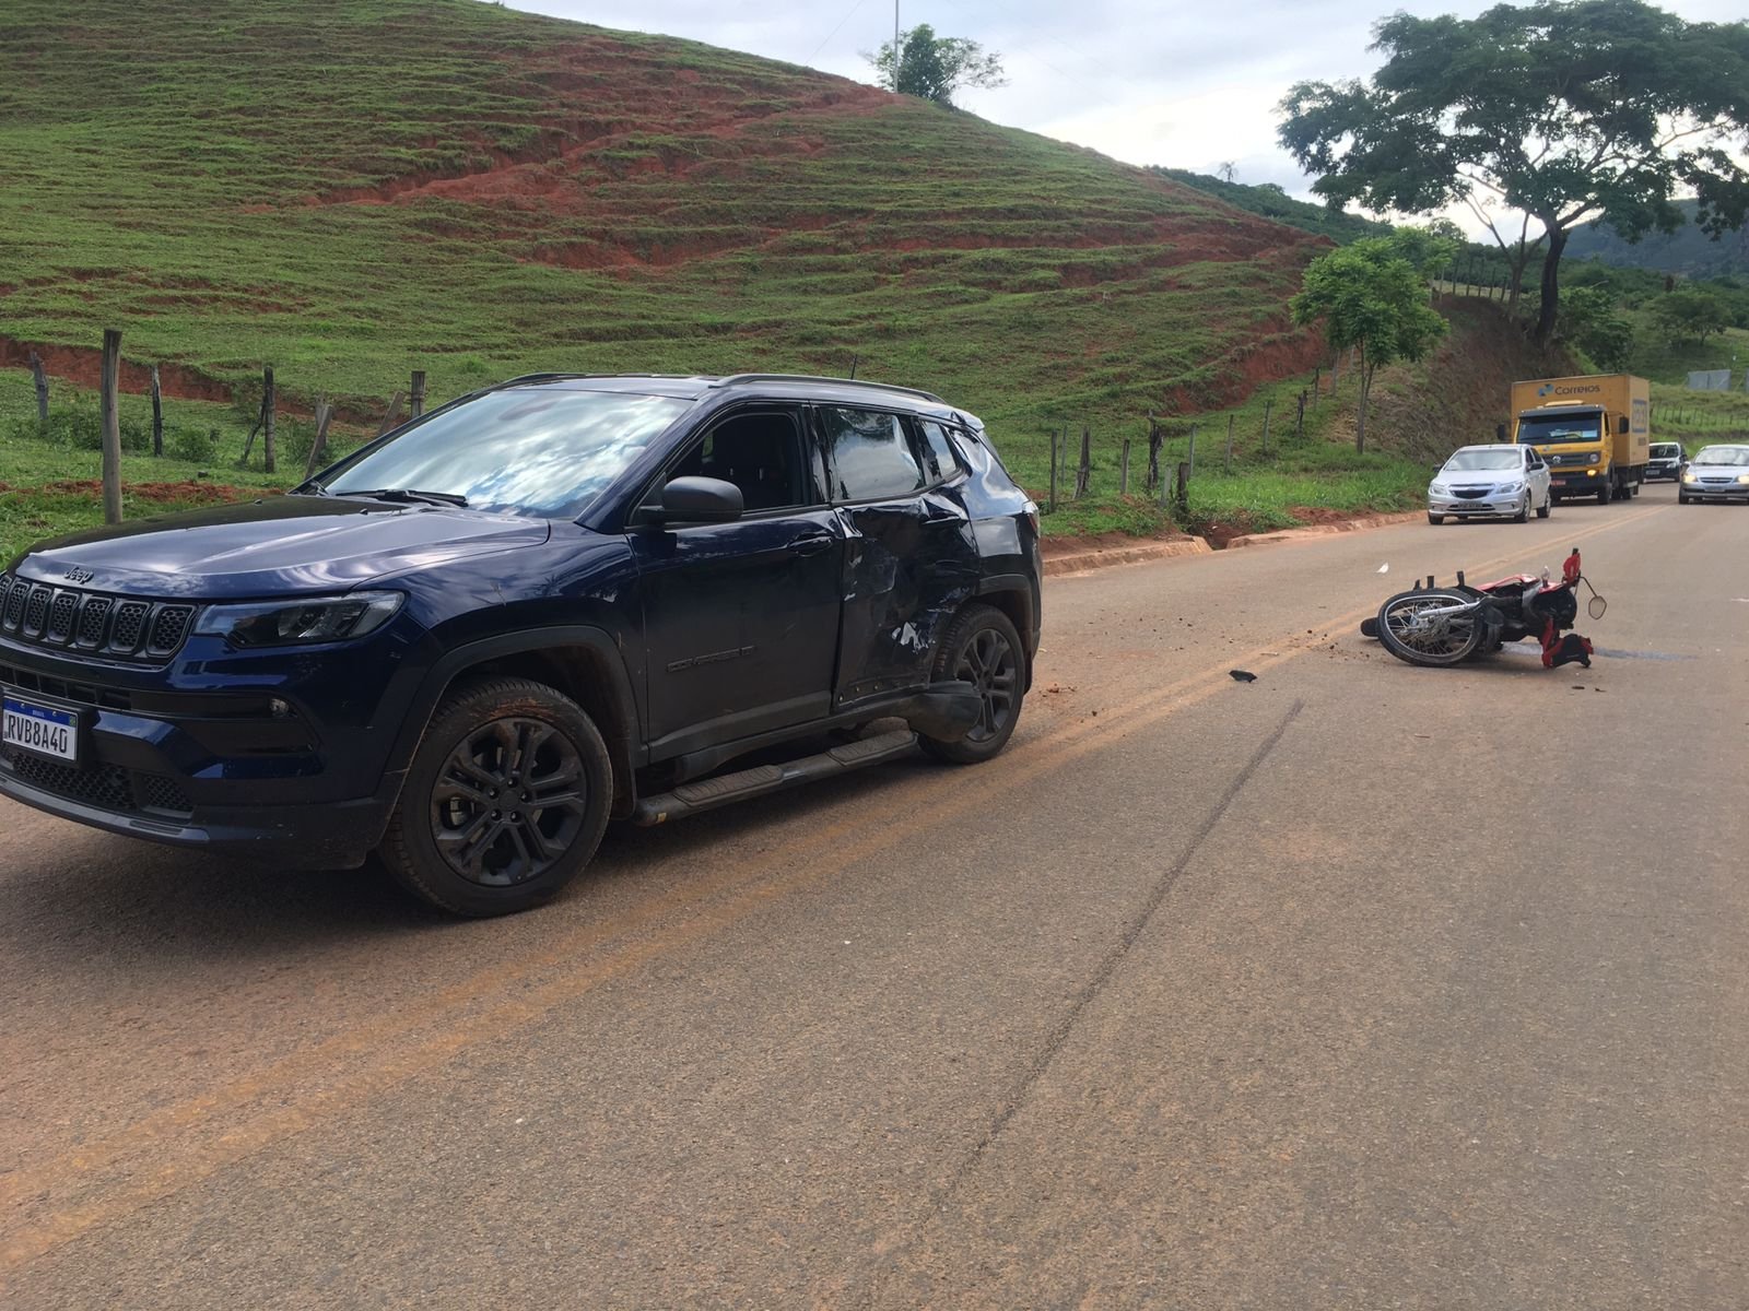
[[266,360],[359,411],[413,367],[442,397],[855,362],[1034,425],[1315,351],[1284,308],[1315,245],[1193,189],[477,0],[10,0],[0,161],[0,334],[122,327],[129,358]]

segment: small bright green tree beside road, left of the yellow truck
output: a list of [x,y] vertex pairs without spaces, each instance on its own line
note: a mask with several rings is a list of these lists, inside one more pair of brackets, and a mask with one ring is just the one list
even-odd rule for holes
[[[1432,246],[1439,238],[1427,241]],[[1404,250],[1406,243],[1396,236],[1373,236],[1319,255],[1289,302],[1296,323],[1322,322],[1331,346],[1361,351],[1355,451],[1366,451],[1366,409],[1378,365],[1418,360],[1445,336],[1445,320],[1427,304],[1425,274]],[[1425,257],[1441,253],[1431,248]],[[1450,260],[1450,250],[1443,259]]]

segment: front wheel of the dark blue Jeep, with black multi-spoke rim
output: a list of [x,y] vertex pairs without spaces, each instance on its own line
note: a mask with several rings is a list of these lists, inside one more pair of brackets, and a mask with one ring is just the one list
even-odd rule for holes
[[476,680],[432,715],[380,855],[442,911],[512,914],[582,872],[612,797],[607,745],[575,701],[526,678]]

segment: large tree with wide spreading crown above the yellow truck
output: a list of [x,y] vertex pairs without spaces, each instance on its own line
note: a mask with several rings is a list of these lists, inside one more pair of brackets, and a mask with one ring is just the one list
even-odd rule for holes
[[[1574,224],[1630,241],[1676,231],[1677,189],[1714,238],[1749,213],[1749,23],[1684,23],[1642,0],[1539,0],[1474,19],[1392,14],[1369,84],[1298,82],[1279,136],[1333,205],[1429,213],[1462,203],[1513,264],[1543,248],[1536,337],[1560,308]],[[1516,212],[1508,239],[1495,206]],[[1530,220],[1543,231],[1530,239]]]

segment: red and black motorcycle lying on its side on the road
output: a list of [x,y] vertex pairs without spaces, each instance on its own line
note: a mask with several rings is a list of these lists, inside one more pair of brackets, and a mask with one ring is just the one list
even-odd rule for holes
[[1361,622],[1361,633],[1410,664],[1462,664],[1508,642],[1536,638],[1543,643],[1544,669],[1574,661],[1590,669],[1590,640],[1569,631],[1579,615],[1581,582],[1592,593],[1586,614],[1602,619],[1609,603],[1581,572],[1574,547],[1560,568],[1560,582],[1550,582],[1548,570],[1541,577],[1515,573],[1487,587],[1467,586],[1462,572],[1452,587],[1434,586],[1429,577],[1424,587],[1397,593],[1378,607],[1376,617]]

